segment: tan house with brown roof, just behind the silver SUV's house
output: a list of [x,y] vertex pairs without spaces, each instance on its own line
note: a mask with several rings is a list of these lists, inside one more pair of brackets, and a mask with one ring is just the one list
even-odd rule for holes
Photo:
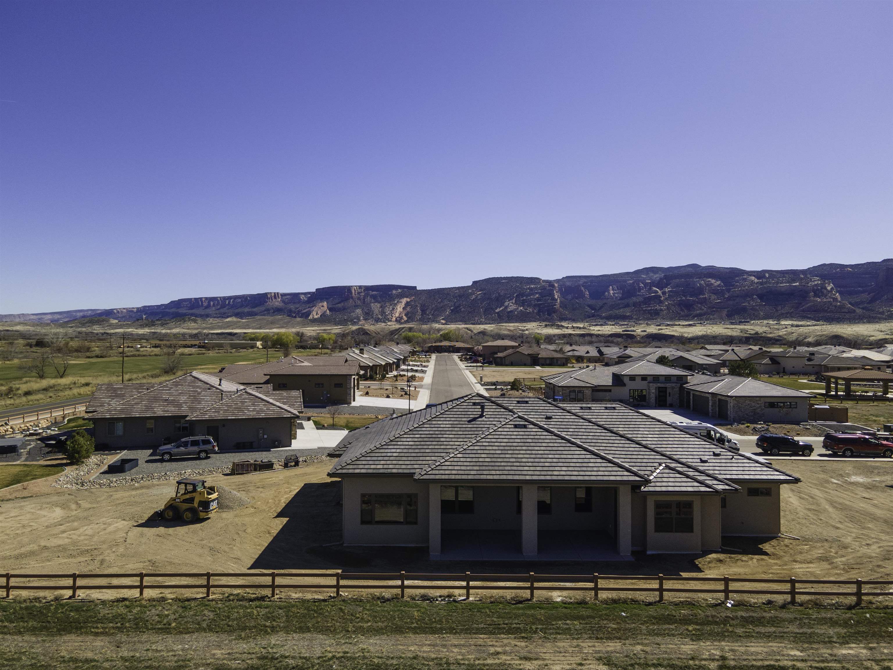
[[299,390],[305,405],[350,405],[356,399],[360,364],[338,356],[288,356],[263,364],[231,364],[215,376],[246,386]]

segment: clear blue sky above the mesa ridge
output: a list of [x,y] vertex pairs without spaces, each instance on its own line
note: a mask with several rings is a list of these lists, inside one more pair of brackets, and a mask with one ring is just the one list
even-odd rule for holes
[[7,0],[0,25],[3,313],[893,249],[891,2]]

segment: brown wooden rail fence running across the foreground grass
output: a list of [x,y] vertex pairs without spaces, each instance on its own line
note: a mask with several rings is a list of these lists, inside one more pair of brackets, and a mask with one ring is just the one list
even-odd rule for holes
[[[272,572],[272,573],[103,573],[103,574],[29,574],[6,573],[6,598],[13,591],[54,590],[71,592],[77,598],[86,590],[133,590],[143,598],[146,590],[199,590],[206,598],[213,590],[269,590],[275,598],[280,590],[330,590],[338,598],[347,590],[399,590],[405,598],[407,590],[459,590],[465,599],[472,591],[524,591],[530,600],[537,591],[589,593],[593,599],[605,592],[655,593],[663,602],[670,593],[722,594],[723,600],[735,595],[783,596],[791,605],[801,596],[835,596],[855,599],[862,605],[864,597],[893,597],[893,580],[829,580],[768,579],[751,577],[687,577],[674,575],[625,574],[428,574],[428,573],[343,573],[335,572]],[[245,581],[249,579],[251,581]],[[104,580],[99,582],[98,580]],[[115,582],[110,582],[115,580]],[[177,580],[171,582],[168,580]],[[243,582],[238,582],[243,580]],[[46,583],[53,581],[53,583]],[[703,584],[703,587],[680,586],[680,582]],[[766,585],[769,585],[769,588]],[[816,589],[816,586],[829,587]],[[810,588],[813,587],[813,588]],[[833,588],[838,587],[838,588]]]

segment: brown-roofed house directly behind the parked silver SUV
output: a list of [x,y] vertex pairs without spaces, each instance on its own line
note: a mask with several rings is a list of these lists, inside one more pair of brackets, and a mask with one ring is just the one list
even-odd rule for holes
[[210,435],[221,449],[288,447],[304,409],[300,391],[250,389],[210,374],[160,384],[98,384],[87,406],[97,445],[154,448]]

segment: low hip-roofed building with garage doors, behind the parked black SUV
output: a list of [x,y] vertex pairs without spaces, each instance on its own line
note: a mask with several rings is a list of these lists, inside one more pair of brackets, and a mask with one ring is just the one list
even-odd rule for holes
[[684,406],[734,423],[803,423],[811,393],[748,377],[698,376],[684,389]]

